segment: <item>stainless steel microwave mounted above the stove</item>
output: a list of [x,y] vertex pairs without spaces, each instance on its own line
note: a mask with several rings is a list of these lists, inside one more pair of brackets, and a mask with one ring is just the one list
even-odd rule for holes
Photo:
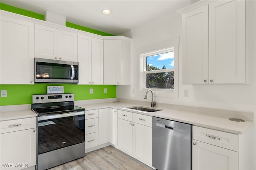
[[79,63],[34,58],[35,83],[79,83]]

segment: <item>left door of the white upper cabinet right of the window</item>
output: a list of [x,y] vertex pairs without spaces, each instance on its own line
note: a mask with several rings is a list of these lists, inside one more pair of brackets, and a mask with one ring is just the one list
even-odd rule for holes
[[208,5],[182,15],[182,83],[208,83]]

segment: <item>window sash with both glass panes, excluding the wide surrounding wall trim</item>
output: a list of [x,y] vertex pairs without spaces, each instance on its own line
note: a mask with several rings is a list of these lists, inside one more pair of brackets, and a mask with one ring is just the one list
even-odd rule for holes
[[174,89],[173,48],[144,54],[146,89]]

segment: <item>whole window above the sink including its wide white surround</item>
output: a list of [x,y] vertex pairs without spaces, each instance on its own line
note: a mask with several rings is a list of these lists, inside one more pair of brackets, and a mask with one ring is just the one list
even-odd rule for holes
[[137,49],[140,56],[140,95],[152,89],[157,97],[178,97],[178,57],[180,39]]

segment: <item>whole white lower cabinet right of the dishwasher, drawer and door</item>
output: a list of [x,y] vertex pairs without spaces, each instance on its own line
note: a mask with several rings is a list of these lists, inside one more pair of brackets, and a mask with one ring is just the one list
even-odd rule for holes
[[[193,126],[193,170],[250,169],[250,135]],[[249,136],[248,136],[249,135]]]

